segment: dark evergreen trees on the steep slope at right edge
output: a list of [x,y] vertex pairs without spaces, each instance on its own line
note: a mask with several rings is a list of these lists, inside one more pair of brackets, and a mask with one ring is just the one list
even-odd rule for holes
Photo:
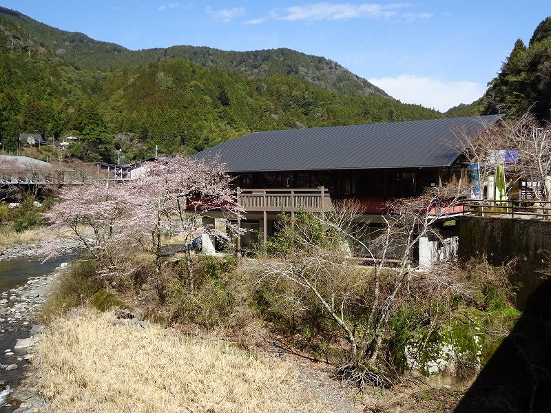
[[501,72],[488,84],[481,100],[483,113],[523,114],[528,109],[540,120],[551,118],[551,17],[534,30],[528,47],[514,43]]

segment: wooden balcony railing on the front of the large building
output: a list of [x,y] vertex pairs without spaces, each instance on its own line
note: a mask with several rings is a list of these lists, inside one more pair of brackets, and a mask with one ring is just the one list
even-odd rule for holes
[[318,189],[237,189],[237,202],[247,212],[311,212],[333,208],[329,192]]

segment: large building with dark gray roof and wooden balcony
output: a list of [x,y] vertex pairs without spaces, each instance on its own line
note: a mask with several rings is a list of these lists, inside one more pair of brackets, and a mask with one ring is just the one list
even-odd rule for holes
[[[477,134],[501,115],[264,131],[196,153],[219,159],[235,177],[242,224],[264,240],[282,209],[322,211],[354,198],[377,222],[388,200],[445,182],[467,182],[461,136]],[[380,220],[379,220],[380,221]],[[453,236],[453,226],[446,226]],[[247,244],[249,240],[242,240]]]

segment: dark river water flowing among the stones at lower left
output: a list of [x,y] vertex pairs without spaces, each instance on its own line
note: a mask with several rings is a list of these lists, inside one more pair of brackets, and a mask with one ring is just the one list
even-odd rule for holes
[[[10,290],[10,288],[23,286],[30,277],[41,277],[52,273],[54,268],[62,262],[66,262],[68,258],[67,255],[56,257],[43,264],[41,264],[39,257],[20,257],[0,261],[0,294]],[[0,295],[0,298],[6,298],[6,295]],[[2,304],[0,308],[6,306],[10,306],[10,304]],[[0,314],[0,318],[6,317]],[[21,381],[21,377],[25,372],[25,363],[17,362],[17,357],[25,354],[25,350],[14,350],[14,345],[18,339],[29,337],[30,327],[29,324],[28,326],[21,326],[21,329],[17,331],[0,332],[0,364],[6,366],[17,363],[19,365],[17,370],[11,371],[0,368],[0,393],[6,389],[6,385],[14,388]],[[14,354],[6,354],[8,349],[12,350]],[[8,403],[9,401],[8,398]],[[11,413],[15,409],[17,409],[17,405],[4,405],[0,401],[0,413]]]

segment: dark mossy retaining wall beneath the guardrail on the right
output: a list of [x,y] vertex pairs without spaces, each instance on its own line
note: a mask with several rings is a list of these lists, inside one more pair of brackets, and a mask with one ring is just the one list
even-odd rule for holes
[[[486,255],[501,265],[517,257],[512,282],[519,288],[517,307],[523,308],[532,291],[547,278],[546,254],[551,251],[551,222],[463,216],[459,219],[459,259]],[[549,266],[548,266],[549,268]]]

